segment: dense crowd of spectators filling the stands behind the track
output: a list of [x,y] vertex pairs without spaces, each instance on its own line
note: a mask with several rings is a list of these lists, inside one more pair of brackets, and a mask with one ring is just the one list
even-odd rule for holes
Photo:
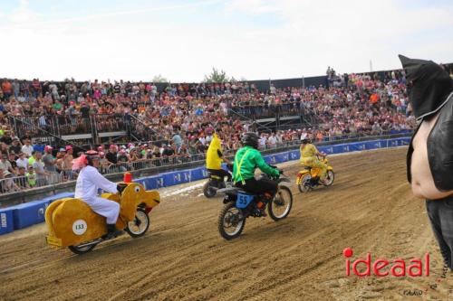
[[[449,72],[453,77],[453,70]],[[42,118],[46,116],[63,116],[72,124],[72,118],[105,115],[108,118],[97,123],[101,128],[133,116],[139,120],[134,134],[151,133],[152,139],[96,146],[103,173],[202,159],[214,132],[222,139],[226,154],[233,154],[241,134],[247,131],[260,132],[260,147],[265,148],[306,134],[322,142],[415,126],[402,71],[389,71],[382,78],[378,73],[337,75],[329,68],[326,86],[276,89],[270,85],[266,92],[247,82],[169,84],[161,91],[152,83],[122,80],[4,79],[0,84],[0,193],[72,180],[77,175],[72,171],[72,146],[44,146],[33,133],[16,136],[8,115],[35,116],[38,126],[45,123]],[[316,123],[270,131],[229,111],[244,113],[251,107],[271,112],[288,108],[287,114],[304,112]],[[7,181],[14,177],[19,180]]]

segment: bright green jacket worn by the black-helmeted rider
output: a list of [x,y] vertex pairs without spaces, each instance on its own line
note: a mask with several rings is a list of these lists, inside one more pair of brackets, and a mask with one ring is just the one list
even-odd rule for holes
[[265,164],[265,160],[258,150],[251,146],[245,146],[240,148],[235,156],[235,165],[233,167],[234,183],[253,178],[256,167],[267,175],[276,176],[280,174],[278,170]]

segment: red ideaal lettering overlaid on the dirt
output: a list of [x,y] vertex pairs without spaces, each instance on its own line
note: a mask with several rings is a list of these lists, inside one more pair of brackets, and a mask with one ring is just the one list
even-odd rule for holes
[[351,248],[343,249],[342,254],[346,258],[347,276],[351,276],[351,270],[359,277],[371,276],[371,273],[377,277],[386,277],[389,274],[392,277],[429,276],[429,253],[425,254],[424,259],[410,259],[407,263],[404,259],[377,259],[373,262],[371,253],[367,253],[366,259],[356,259],[351,262],[350,258],[353,255]]

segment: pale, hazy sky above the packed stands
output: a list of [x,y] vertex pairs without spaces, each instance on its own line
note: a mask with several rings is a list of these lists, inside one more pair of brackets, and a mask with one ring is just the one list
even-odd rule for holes
[[0,77],[282,79],[453,61],[453,2],[0,0]]

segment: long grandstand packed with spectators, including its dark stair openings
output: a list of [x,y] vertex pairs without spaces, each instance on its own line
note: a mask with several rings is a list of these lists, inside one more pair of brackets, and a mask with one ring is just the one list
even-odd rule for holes
[[[453,75],[452,64],[444,67]],[[407,134],[415,126],[401,71],[191,84],[4,79],[1,86],[0,142],[10,162],[2,193],[72,180],[66,146],[73,156],[98,148],[101,172],[115,174],[199,164],[214,131],[233,155],[250,130],[272,152],[298,146],[304,134],[325,143]],[[26,140],[38,152],[53,146],[35,185],[17,166]]]

